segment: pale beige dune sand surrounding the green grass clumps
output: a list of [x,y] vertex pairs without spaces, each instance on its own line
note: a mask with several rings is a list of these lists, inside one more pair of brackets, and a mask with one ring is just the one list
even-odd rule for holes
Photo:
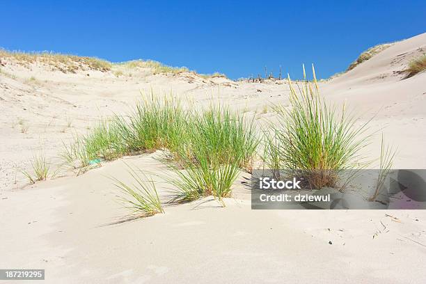
[[[372,129],[385,127],[386,139],[400,149],[395,166],[401,168],[426,166],[426,73],[409,79],[400,73],[420,49],[426,49],[426,33],[321,84],[329,100],[346,100],[361,120],[377,113]],[[274,120],[270,108],[261,113],[265,105],[287,103],[288,86],[282,81],[236,83],[193,74],[153,76],[146,70],[124,70],[123,77],[95,71],[63,74],[13,62],[1,70],[15,78],[0,74],[0,267],[45,268],[48,283],[426,280],[423,211],[251,210],[247,189],[238,180],[235,199],[226,200],[226,208],[207,198],[120,223],[126,211],[115,202],[117,193],[107,177],[127,178],[123,159],[77,178],[68,173],[24,187],[19,168],[28,168],[35,150],[43,148],[55,162],[61,140],[86,132],[100,116],[126,113],[139,90],[173,90],[196,106],[230,102],[261,122]],[[370,154],[378,155],[378,142],[370,145]],[[124,160],[167,174],[155,155]],[[161,196],[168,194],[160,180],[157,186]]]

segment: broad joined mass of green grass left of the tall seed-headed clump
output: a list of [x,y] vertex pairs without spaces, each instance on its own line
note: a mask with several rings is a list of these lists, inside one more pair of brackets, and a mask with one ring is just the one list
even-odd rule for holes
[[[183,109],[172,97],[153,93],[136,104],[129,117],[101,120],[61,153],[68,168],[81,173],[97,159],[164,150],[177,179],[175,200],[212,195],[230,196],[232,182],[242,169],[251,171],[258,145],[253,120],[225,107],[201,113]],[[84,170],[86,171],[86,170]]]

